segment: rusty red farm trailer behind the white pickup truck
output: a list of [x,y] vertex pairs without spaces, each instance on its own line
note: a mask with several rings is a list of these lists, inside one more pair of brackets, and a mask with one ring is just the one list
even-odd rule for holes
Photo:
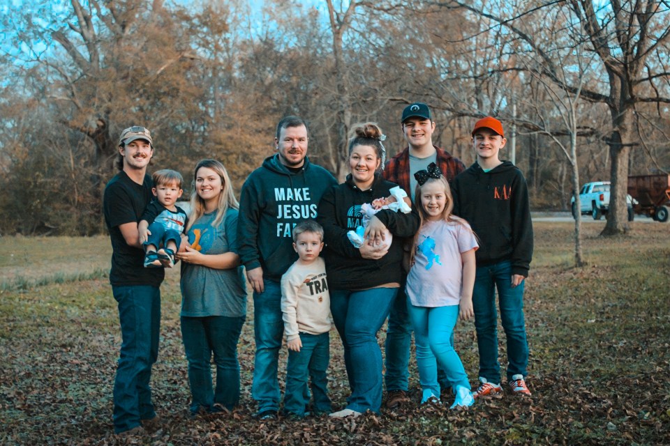
[[670,175],[628,177],[628,194],[636,199],[635,213],[646,214],[657,222],[667,222],[670,214]]

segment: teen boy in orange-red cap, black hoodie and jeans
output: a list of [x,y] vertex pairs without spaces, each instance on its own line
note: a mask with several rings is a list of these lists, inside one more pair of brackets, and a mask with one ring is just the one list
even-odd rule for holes
[[475,398],[502,392],[498,362],[498,315],[507,336],[507,382],[512,394],[530,395],[526,386],[528,341],[523,318],[523,284],[533,257],[528,186],[521,171],[500,160],[505,148],[502,123],[487,116],[472,129],[477,161],[452,185],[454,214],[479,236],[472,291],[479,348],[479,388]]

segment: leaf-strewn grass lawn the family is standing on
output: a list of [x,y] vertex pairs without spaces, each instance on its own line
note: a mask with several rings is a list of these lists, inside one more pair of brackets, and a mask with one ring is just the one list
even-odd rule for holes
[[[526,284],[533,396],[477,401],[470,410],[415,402],[357,420],[252,420],[253,306],[239,343],[241,406],[187,416],[186,358],[179,332],[179,271],[163,284],[161,351],[154,401],[165,420],[147,445],[669,445],[670,224],[633,222],[625,238],[583,226],[588,266],[572,268],[572,224],[535,224]],[[0,444],[117,444],[112,385],[120,336],[105,271],[109,239],[0,238]],[[502,332],[502,330],[500,330]],[[500,355],[505,364],[505,336]],[[383,343],[384,329],[379,341]],[[477,378],[472,322],[456,347]],[[348,394],[342,349],[331,336],[329,390]],[[280,378],[285,370],[281,355]],[[447,401],[447,407],[452,401]]]

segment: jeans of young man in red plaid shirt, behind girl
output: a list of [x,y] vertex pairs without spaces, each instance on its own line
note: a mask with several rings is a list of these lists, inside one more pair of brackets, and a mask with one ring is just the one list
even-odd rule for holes
[[[412,345],[412,323],[408,314],[408,302],[405,295],[405,281],[398,290],[389,314],[389,326],[386,332],[386,374],[384,380],[386,391],[408,391],[410,346]],[[451,338],[454,344],[454,335]],[[438,364],[438,382],[442,388],[451,387],[447,374]]]

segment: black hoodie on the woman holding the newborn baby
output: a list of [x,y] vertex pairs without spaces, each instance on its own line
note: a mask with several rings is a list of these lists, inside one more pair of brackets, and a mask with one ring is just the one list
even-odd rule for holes
[[347,237],[348,231],[361,224],[361,205],[388,197],[389,190],[395,186],[395,183],[375,174],[372,187],[360,190],[348,175],[344,183],[323,194],[317,221],[324,231],[324,258],[330,289],[361,290],[402,281],[402,238],[414,236],[419,230],[416,210],[403,214],[385,209],[375,214],[394,236],[389,252],[379,260],[363,259],[359,249]]

